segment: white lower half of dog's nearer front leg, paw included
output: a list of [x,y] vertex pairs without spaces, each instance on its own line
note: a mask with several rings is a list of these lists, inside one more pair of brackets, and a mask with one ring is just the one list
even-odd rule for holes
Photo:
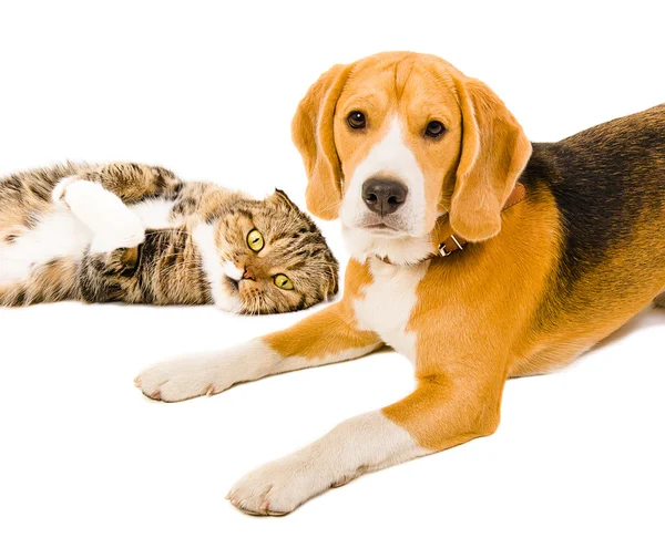
[[286,514],[330,485],[423,456],[413,438],[374,411],[342,422],[309,446],[245,475],[228,496],[254,514]]

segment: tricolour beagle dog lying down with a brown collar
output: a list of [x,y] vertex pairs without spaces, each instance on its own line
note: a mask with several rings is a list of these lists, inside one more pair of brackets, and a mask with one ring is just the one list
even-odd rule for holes
[[499,425],[509,377],[563,366],[665,306],[665,105],[530,143],[503,102],[443,60],[335,65],[293,121],[307,204],[340,218],[344,298],[290,329],[149,368],[152,399],[393,348],[412,394],[242,478],[239,509],[283,515],[321,492]]

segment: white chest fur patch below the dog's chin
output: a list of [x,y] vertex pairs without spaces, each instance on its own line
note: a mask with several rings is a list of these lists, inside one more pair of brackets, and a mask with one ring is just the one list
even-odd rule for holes
[[378,259],[369,261],[372,283],[354,303],[358,329],[376,332],[399,353],[416,360],[416,333],[407,330],[417,303],[416,289],[427,273],[429,261],[400,267]]

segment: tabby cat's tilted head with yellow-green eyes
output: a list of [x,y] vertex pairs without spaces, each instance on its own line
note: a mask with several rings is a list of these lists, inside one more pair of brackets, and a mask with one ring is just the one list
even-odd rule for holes
[[216,219],[215,246],[222,287],[241,313],[303,310],[338,291],[339,266],[324,236],[282,190],[229,206]]

